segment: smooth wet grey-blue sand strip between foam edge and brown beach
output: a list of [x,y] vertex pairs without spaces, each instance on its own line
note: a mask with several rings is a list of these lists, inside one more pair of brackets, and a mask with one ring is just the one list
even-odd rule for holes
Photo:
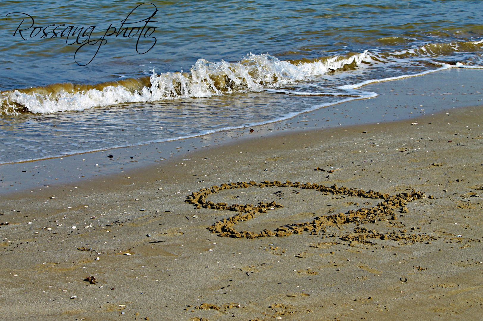
[[[271,136],[280,130],[305,131],[321,125],[333,128],[361,123],[389,123],[392,120],[387,121],[387,116],[391,117],[387,112],[393,112],[395,119],[417,119],[416,117],[428,112],[442,112],[450,108],[469,106],[477,100],[483,101],[483,94],[475,89],[475,86],[476,88],[483,86],[480,84],[478,72],[480,71],[451,68],[417,77],[367,84],[364,90],[378,92],[378,97],[339,103],[298,114],[284,121],[260,126],[220,131],[182,140],[106,149],[24,163],[2,164],[0,165],[0,176],[2,176],[0,194],[11,194],[12,189],[14,193],[36,188],[44,189],[46,185],[49,187],[55,185],[56,181],[63,184],[76,184],[82,180],[95,179],[96,176],[109,176],[119,174],[121,170],[151,166],[156,162],[169,159],[174,154],[185,153],[182,151],[193,152],[201,148],[222,146],[227,141],[230,143],[230,140],[251,140],[255,135]],[[421,88],[418,90],[418,87]],[[451,93],[441,94],[441,88],[449,89]],[[437,93],[438,90],[439,93]],[[391,109],[388,110],[386,106]],[[412,108],[413,106],[416,107]],[[338,112],[339,110],[343,112]],[[357,120],[354,119],[356,117]],[[249,129],[254,129],[256,132],[251,134]],[[113,157],[106,158],[109,154]],[[100,166],[95,166],[96,164]],[[33,175],[24,174],[24,170],[25,173]],[[82,175],[79,175],[79,170],[82,170]]]

